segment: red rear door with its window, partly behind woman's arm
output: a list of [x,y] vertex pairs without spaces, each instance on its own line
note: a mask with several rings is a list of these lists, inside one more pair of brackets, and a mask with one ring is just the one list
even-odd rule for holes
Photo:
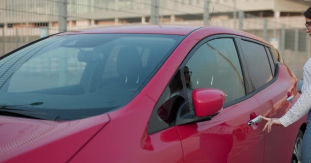
[[[250,40],[240,40],[240,43],[250,76],[250,93],[260,103],[263,116],[280,118],[295,101],[286,99],[297,96],[297,79],[288,73],[285,65],[275,69],[268,47]],[[270,133],[265,131],[264,162],[290,162],[299,127],[274,126]]]

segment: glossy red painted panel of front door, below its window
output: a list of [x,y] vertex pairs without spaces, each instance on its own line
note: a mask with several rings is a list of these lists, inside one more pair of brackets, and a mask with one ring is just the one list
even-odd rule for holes
[[177,126],[185,162],[263,162],[263,123],[248,126],[260,115],[255,98],[229,106],[212,120]]

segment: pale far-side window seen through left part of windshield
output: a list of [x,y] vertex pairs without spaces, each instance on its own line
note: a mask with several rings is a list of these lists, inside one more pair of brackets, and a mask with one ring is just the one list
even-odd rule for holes
[[[79,84],[86,63],[78,61],[78,51],[61,47],[28,60],[12,76],[8,92],[27,92]],[[20,81],[23,81],[23,85]]]

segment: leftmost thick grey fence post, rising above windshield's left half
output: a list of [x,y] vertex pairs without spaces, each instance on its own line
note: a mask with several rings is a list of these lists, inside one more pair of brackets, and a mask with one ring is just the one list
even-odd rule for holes
[[58,32],[67,31],[67,0],[58,2]]

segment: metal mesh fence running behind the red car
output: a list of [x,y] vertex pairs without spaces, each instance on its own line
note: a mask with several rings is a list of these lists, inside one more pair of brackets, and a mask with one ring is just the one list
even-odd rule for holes
[[0,56],[41,37],[68,30],[120,24],[215,25],[242,30],[271,42],[285,63],[302,78],[303,64],[310,57],[310,38],[305,34],[302,14],[243,12],[238,8],[239,1],[221,4],[218,0],[0,0]]

